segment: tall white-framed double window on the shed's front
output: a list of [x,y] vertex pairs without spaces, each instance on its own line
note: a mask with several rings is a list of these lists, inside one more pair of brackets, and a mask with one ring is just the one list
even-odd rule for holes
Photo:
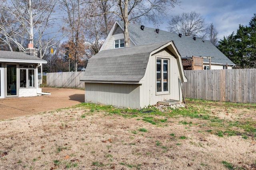
[[169,91],[169,59],[156,59],[156,92]]

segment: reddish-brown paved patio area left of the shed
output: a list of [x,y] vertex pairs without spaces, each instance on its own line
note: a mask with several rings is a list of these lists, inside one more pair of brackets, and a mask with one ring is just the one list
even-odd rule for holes
[[70,107],[84,102],[84,90],[42,87],[51,95],[0,99],[0,120]]

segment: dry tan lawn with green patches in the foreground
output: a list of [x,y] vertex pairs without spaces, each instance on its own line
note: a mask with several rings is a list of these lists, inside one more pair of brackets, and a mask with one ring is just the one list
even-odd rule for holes
[[1,121],[0,169],[256,168],[255,105],[187,103],[154,114],[82,104]]

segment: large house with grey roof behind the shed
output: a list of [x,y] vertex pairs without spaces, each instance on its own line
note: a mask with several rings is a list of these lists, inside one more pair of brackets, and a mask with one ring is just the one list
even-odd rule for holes
[[[198,65],[196,64],[197,67],[194,67],[194,69],[232,69],[232,67],[235,66],[235,64],[210,41],[202,40],[201,38],[192,38],[190,36],[183,36],[182,34],[178,35],[136,24],[129,24],[129,37],[130,47],[173,41],[183,62],[187,60],[187,65],[185,65],[186,68],[184,67],[184,69],[192,69],[192,61],[195,61],[194,65],[199,61]],[[120,47],[124,47],[124,27],[122,22],[117,21],[110,30],[100,51]],[[198,60],[192,60],[192,57]],[[201,59],[203,63],[201,63]]]

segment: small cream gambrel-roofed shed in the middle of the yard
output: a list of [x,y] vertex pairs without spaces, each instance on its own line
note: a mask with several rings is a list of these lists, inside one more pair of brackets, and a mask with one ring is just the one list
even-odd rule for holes
[[182,101],[184,76],[173,41],[101,50],[91,57],[81,82],[85,101],[140,109],[159,101]]

